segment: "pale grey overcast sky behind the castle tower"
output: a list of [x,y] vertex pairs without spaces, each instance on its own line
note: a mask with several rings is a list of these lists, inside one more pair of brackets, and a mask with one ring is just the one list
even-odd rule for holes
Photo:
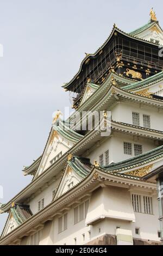
[[42,154],[52,113],[70,106],[61,86],[84,52],[95,52],[114,23],[125,32],[145,25],[151,7],[163,27],[162,0],[0,0],[1,203],[30,182],[22,168]]

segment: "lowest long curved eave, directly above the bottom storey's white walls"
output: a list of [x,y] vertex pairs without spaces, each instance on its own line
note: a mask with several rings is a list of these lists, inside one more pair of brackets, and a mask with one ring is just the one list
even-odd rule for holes
[[[98,179],[95,178],[95,174],[98,175]],[[54,213],[57,212],[61,206],[67,204],[67,202],[81,197],[86,191],[89,192],[90,190],[96,188],[97,184],[102,181],[101,179],[120,183],[121,185],[123,184],[123,181],[127,181],[128,185],[133,185],[136,187],[141,186],[144,188],[156,190],[156,185],[154,184],[154,182],[147,182],[141,180],[139,177],[134,177],[127,174],[106,173],[103,171],[103,169],[94,167],[92,169],[92,172],[87,175],[85,179],[80,181],[76,186],[71,188],[71,190],[65,192],[64,194],[61,194],[60,197],[46,205],[45,208],[43,208],[41,211],[36,212],[36,214],[28,218],[28,220],[12,230],[9,234],[7,234],[6,236],[2,236],[0,239],[0,244],[7,245],[11,241],[15,241],[17,234],[19,234],[20,236],[23,236],[24,233],[27,234],[27,232],[31,230],[32,227],[38,225],[43,220],[54,215]]]

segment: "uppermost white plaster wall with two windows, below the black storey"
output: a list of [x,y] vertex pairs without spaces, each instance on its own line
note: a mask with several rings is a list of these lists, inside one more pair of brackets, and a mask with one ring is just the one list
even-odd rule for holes
[[132,112],[140,113],[140,126],[143,127],[143,114],[147,114],[151,117],[151,129],[162,131],[163,113],[159,113],[156,108],[147,108],[139,104],[118,102],[111,109],[112,120],[133,124]]

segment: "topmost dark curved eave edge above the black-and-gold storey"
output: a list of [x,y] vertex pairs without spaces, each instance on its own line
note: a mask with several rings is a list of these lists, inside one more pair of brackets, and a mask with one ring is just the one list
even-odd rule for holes
[[119,28],[117,28],[117,27],[114,26],[114,27],[112,28],[112,31],[111,31],[111,33],[110,33],[108,39],[106,39],[106,41],[104,42],[104,44],[103,44],[101,47],[99,47],[98,50],[97,50],[94,54],[89,54],[89,55],[87,55],[87,56],[82,60],[82,63],[80,64],[80,68],[79,68],[79,71],[77,72],[77,74],[72,78],[72,80],[71,80],[70,82],[65,83],[65,84],[62,86],[62,88],[68,90],[68,87],[70,86],[70,84],[79,76],[80,72],[81,72],[82,69],[83,69],[83,65],[85,64],[86,60],[87,60],[87,59],[93,59],[93,58],[95,58],[95,57],[97,56],[97,54],[99,54],[99,53],[103,50],[104,46],[109,42],[109,40],[111,39],[111,36],[114,35],[114,32],[119,32],[120,34],[125,35],[125,36],[127,36],[128,38],[135,39],[135,40],[138,40],[138,41],[141,41],[141,42],[145,42],[146,44],[149,44],[149,45],[159,46],[159,44],[156,44],[156,43],[154,43],[154,42],[149,42],[148,40],[145,40],[145,39],[137,38],[136,36],[130,35],[130,34],[124,32],[124,31],[122,31],[121,29],[119,29]]

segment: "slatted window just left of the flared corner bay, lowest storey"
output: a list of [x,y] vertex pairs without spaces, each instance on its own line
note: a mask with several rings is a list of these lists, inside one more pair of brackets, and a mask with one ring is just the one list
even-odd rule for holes
[[88,206],[89,200],[86,200],[84,203],[74,208],[74,224],[77,224],[86,218]]

